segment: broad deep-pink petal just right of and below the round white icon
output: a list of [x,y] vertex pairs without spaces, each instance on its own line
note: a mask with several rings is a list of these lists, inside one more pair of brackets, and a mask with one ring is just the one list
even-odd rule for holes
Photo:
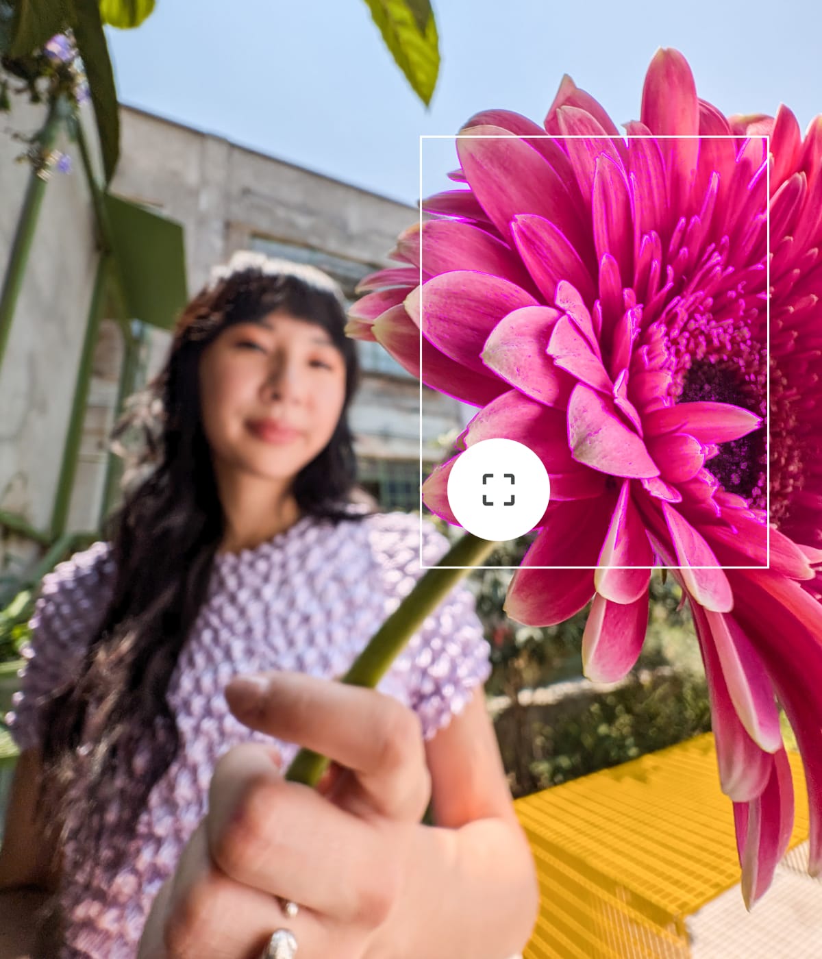
[[[549,626],[582,609],[594,595],[592,567],[612,503],[603,496],[549,505],[545,525],[508,586],[503,605],[507,616],[529,626]],[[530,569],[533,566],[552,569]]]

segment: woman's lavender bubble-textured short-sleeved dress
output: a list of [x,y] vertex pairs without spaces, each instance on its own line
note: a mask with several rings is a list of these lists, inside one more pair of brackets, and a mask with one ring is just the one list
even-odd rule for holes
[[[448,542],[423,521],[423,562]],[[252,550],[219,555],[169,688],[181,748],[154,785],[130,840],[128,865],[106,887],[83,885],[64,851],[60,902],[66,942],[59,959],[134,959],[153,898],[175,869],[185,842],[207,811],[219,756],[251,741],[273,741],[228,712],[223,689],[236,673],[285,669],[337,677],[406,596],[419,568],[419,518],[377,513],[336,526],[303,516]],[[21,690],[7,714],[20,749],[41,737],[38,698],[71,676],[110,596],[113,563],[95,543],[44,580],[24,655]],[[459,713],[490,672],[474,596],[464,582],[424,621],[379,689],[419,715],[426,738]],[[296,752],[278,743],[288,764]],[[78,809],[82,814],[82,809]],[[109,830],[106,843],[126,837]]]

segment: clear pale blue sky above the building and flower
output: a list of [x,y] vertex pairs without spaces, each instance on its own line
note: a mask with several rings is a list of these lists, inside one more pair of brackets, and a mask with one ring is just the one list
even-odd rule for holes
[[[660,46],[685,54],[700,96],[726,113],[782,102],[804,130],[822,112],[811,0],[434,0],[434,12],[442,64],[429,109],[363,0],[157,0],[109,43],[122,102],[411,204],[420,134],[453,135],[487,107],[541,123],[564,73],[618,124],[636,119]],[[424,141],[423,195],[450,188],[456,165],[453,140]]]

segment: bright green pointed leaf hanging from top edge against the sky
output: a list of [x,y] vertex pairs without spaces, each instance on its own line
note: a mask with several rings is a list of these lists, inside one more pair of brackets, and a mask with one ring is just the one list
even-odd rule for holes
[[[439,73],[439,44],[431,4],[426,0],[365,0],[365,3],[397,66],[428,106]],[[421,29],[419,23],[426,12],[425,28]]]

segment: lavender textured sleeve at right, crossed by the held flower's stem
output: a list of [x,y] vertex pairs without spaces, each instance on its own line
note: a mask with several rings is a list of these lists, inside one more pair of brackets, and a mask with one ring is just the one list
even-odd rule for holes
[[[423,518],[421,526],[422,561],[434,566],[450,543],[430,520]],[[376,540],[387,619],[425,573],[419,562],[419,516],[383,514]],[[491,672],[489,656],[474,594],[462,579],[423,620],[393,667],[403,677],[408,704],[419,716],[426,739],[461,713],[484,684]]]

